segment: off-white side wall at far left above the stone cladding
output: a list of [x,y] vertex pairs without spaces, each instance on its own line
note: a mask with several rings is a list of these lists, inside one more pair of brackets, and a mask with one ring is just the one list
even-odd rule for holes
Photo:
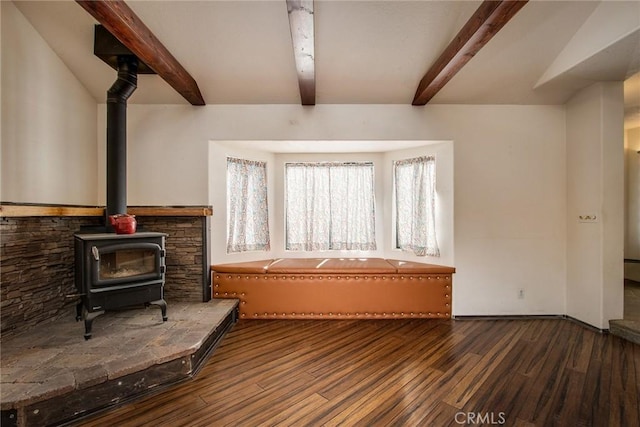
[[96,101],[12,2],[0,7],[2,200],[95,205]]

